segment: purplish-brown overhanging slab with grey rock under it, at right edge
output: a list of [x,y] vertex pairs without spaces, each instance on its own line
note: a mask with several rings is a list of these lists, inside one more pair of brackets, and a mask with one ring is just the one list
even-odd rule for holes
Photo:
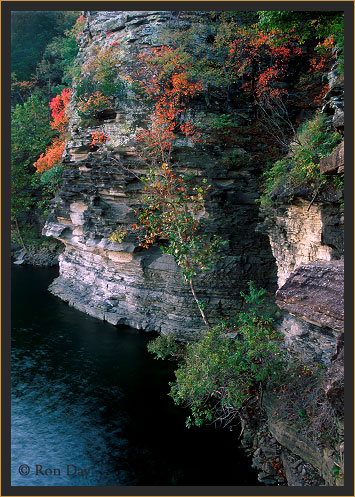
[[276,293],[289,352],[329,365],[344,327],[344,261],[301,264]]

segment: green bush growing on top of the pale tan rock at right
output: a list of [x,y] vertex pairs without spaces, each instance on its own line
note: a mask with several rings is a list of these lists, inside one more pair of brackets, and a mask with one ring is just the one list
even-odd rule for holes
[[270,203],[269,196],[279,185],[286,189],[301,185],[318,188],[325,183],[328,179],[320,174],[319,161],[330,155],[340,141],[338,132],[329,132],[323,114],[304,123],[297,132],[292,156],[276,161],[264,173],[262,205]]

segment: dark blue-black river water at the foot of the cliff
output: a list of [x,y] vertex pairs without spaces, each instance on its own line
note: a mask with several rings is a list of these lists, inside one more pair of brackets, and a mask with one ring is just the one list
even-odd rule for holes
[[12,485],[257,485],[237,434],[185,428],[149,336],[69,307],[56,275],[12,271]]

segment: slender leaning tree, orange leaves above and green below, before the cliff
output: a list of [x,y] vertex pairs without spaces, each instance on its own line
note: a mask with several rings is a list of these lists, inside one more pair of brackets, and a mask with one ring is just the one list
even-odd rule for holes
[[143,178],[145,195],[138,215],[144,232],[141,246],[148,248],[160,241],[163,252],[174,257],[209,328],[193,281],[199,270],[213,266],[222,243],[220,237],[207,237],[199,231],[199,218],[209,187],[204,181],[192,186],[169,165],[177,132],[194,140],[199,138],[192,123],[183,121],[182,114],[186,102],[198,95],[202,86],[188,79],[187,60],[170,47],[152,49],[138,59],[141,62],[139,83],[154,99],[151,128],[137,135],[141,158],[153,166]]

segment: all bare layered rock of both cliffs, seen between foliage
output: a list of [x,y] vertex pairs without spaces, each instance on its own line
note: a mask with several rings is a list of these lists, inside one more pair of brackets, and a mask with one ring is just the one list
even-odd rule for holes
[[[122,75],[129,75],[137,53],[160,44],[163,26],[171,22],[189,26],[200,20],[199,13],[185,13],[177,19],[171,12],[91,12],[80,38],[78,60],[88,62],[95,57],[95,47],[117,43],[124,55]],[[342,130],[341,87],[333,79],[324,109],[333,126]],[[74,101],[71,103],[71,137],[64,155],[68,168],[44,228],[44,234],[65,244],[60,276],[51,291],[77,309],[112,324],[187,337],[201,329],[203,322],[179,268],[159,248],[141,249],[130,227],[136,222],[134,211],[141,202],[139,178],[146,171],[136,153],[136,134],[146,127],[151,111],[147,102],[128,91],[116,102],[115,109],[102,113],[99,123],[84,126]],[[251,114],[246,102],[234,111],[236,119],[241,116],[241,125]],[[202,100],[189,108],[191,118],[201,127],[207,122],[208,112]],[[110,137],[98,150],[90,147],[94,131]],[[324,159],[322,172],[338,174],[343,170],[341,147],[339,150]],[[238,308],[240,291],[249,280],[272,292],[278,286],[276,299],[283,311],[279,327],[289,356],[328,368],[320,388],[338,413],[341,425],[341,195],[333,192],[313,197],[313,193],[298,191],[292,199],[286,199],[276,192],[276,207],[260,226],[255,204],[260,171],[249,163],[238,169],[226,167],[231,157],[243,153],[236,145],[202,148],[186,138],[179,140],[173,150],[176,171],[194,173],[212,185],[203,213],[204,229],[228,241],[222,262],[197,279],[198,297],[207,302],[208,318],[214,324]],[[121,243],[109,240],[117,228],[126,232]],[[282,461],[290,485],[339,484],[332,469],[342,464],[341,444],[324,449],[306,436],[298,437],[297,426],[287,416],[277,417],[279,405],[272,395],[265,395],[264,407],[267,419],[262,436],[259,432],[245,442],[247,447],[259,447],[254,463],[261,471],[260,481],[283,481],[277,480],[275,466],[269,462],[274,457]],[[339,433],[337,437],[341,438]],[[265,441],[267,437],[269,442],[271,437],[270,443]],[[318,471],[316,483],[307,479],[309,467]]]

